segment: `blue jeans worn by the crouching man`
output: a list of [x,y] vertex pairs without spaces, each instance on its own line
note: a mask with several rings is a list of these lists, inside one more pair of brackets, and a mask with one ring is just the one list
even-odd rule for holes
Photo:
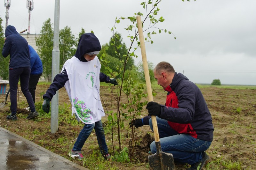
[[[158,133],[162,152],[172,153],[174,161],[188,163],[190,165],[199,162],[203,158],[212,142],[196,139],[188,134],[180,134],[173,130],[167,120],[156,117]],[[153,131],[152,120],[149,126]],[[156,144],[150,144],[152,153],[156,153]]]

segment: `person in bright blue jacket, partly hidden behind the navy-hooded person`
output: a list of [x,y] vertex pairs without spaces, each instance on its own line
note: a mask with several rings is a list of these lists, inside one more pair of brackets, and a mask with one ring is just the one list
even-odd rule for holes
[[[30,53],[30,77],[28,81],[28,90],[32,95],[34,103],[36,102],[36,86],[43,73],[43,63],[36,53],[36,50],[28,45]],[[27,110],[30,110],[30,107],[26,107]]]

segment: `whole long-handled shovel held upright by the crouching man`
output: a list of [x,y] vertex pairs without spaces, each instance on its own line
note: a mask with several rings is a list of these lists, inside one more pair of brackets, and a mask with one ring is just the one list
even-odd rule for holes
[[[140,38],[142,63],[143,63],[147,92],[148,92],[148,99],[149,101],[153,101],[153,94],[152,94],[151,83],[149,78],[148,62],[147,62],[146,48],[144,43],[142,23],[141,23],[141,17],[139,15],[137,15],[137,24],[138,24],[138,32],[139,32],[139,38]],[[162,149],[161,149],[156,116],[151,116],[151,120],[153,123],[154,137],[155,137],[155,143],[156,143],[156,153],[148,156],[149,166],[152,167],[154,170],[173,170],[175,166],[174,166],[174,160],[173,160],[172,154],[162,152]]]

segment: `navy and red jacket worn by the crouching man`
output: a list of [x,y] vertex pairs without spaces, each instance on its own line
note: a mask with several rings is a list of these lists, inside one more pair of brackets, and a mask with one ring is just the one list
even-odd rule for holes
[[[172,83],[164,90],[167,91],[166,103],[158,117],[167,120],[170,127],[180,134],[212,141],[212,116],[195,83],[175,72]],[[148,125],[149,118],[143,118],[145,125]]]

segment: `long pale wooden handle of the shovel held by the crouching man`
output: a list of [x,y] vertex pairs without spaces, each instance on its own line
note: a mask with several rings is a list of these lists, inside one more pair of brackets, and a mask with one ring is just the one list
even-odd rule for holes
[[[152,94],[149,71],[148,71],[148,61],[147,61],[146,48],[145,48],[144,35],[143,35],[142,22],[141,22],[140,15],[137,15],[137,24],[138,24],[138,32],[139,32],[139,38],[140,38],[140,50],[141,50],[141,56],[142,56],[142,63],[143,63],[147,92],[148,92],[148,100],[153,101],[153,94]],[[159,142],[160,139],[158,134],[156,116],[151,116],[151,120],[153,123],[155,142]]]

